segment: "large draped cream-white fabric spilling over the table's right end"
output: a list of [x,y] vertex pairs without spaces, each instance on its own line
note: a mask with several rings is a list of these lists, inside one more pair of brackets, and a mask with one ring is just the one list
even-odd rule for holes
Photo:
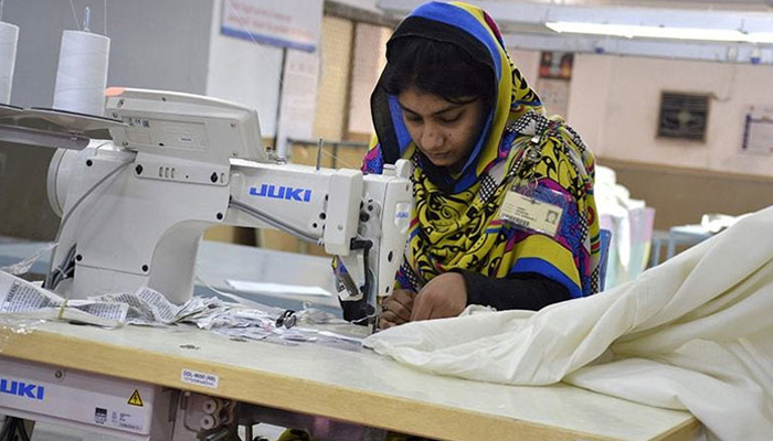
[[773,439],[773,207],[589,298],[413,322],[368,337],[416,368],[565,381],[687,409],[721,440]]

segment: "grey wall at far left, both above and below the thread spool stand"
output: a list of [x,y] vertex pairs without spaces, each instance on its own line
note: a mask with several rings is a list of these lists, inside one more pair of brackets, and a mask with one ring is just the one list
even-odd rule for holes
[[[63,30],[92,8],[92,31],[104,33],[103,0],[7,0],[3,21],[20,26],[11,104],[51,107]],[[107,84],[204,93],[211,0],[110,1]],[[176,37],[170,39],[169,35]],[[53,150],[0,143],[0,235],[52,239],[59,217],[45,192]]]

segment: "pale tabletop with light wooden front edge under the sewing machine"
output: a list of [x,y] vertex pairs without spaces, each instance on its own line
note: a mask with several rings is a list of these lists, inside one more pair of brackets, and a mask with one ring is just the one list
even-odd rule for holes
[[[24,332],[19,329],[6,319],[1,354],[436,439],[688,440],[699,428],[682,411],[563,384],[434,376],[356,346],[234,342],[188,326],[21,322]],[[186,368],[216,375],[218,388],[181,383]]]

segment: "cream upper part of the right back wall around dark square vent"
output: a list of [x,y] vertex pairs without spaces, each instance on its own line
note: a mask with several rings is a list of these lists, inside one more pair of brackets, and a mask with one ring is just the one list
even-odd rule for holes
[[[741,154],[751,105],[773,104],[773,67],[579,54],[569,121],[600,157],[773,176],[773,155]],[[658,139],[660,92],[711,94],[706,143]]]

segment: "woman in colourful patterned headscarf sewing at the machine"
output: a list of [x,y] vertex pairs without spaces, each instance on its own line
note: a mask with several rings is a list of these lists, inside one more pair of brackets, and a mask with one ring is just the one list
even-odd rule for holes
[[[386,47],[371,97],[378,139],[363,171],[410,159],[415,206],[380,327],[455,316],[469,304],[539,310],[596,292],[593,155],[560,117],[546,118],[494,20],[465,3],[426,3]],[[512,214],[506,197],[508,207],[558,207],[549,219],[561,214],[560,223],[502,219]]]

